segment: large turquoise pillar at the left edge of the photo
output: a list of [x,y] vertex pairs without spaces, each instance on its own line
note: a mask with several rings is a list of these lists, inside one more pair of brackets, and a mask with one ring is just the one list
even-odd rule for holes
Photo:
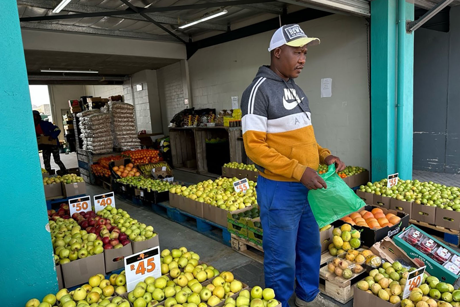
[[16,0],[1,8],[0,301],[20,307],[56,292],[57,278]]

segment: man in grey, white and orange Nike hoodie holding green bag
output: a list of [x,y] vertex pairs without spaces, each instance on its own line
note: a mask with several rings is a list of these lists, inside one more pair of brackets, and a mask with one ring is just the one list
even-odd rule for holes
[[334,307],[319,295],[319,229],[308,190],[327,188],[316,173],[319,163],[345,164],[316,143],[308,98],[295,84],[307,47],[319,44],[298,24],[276,30],[270,66],[259,68],[242,95],[242,130],[247,156],[259,170],[257,200],[264,229],[265,287],[288,307],[296,281],[299,307]]

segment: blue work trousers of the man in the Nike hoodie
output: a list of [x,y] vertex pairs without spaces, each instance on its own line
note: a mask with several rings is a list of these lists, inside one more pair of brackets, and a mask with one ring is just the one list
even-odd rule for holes
[[321,243],[307,194],[308,189],[299,182],[262,176],[257,180],[265,287],[275,290],[282,307],[289,307],[294,280],[295,293],[303,301],[314,300],[319,292]]

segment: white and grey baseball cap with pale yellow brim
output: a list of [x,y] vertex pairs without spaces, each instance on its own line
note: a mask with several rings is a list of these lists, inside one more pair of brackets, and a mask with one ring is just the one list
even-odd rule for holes
[[282,45],[301,47],[305,45],[315,46],[319,45],[319,43],[319,38],[308,37],[298,24],[293,23],[284,25],[275,31],[271,37],[268,51],[272,51]]

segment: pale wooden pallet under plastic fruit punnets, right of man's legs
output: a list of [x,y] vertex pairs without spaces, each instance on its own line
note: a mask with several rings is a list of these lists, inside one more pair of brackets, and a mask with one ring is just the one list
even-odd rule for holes
[[328,271],[327,263],[332,258],[334,258],[334,256],[330,255],[328,251],[325,251],[321,255],[319,290],[321,293],[332,297],[334,300],[339,301],[342,304],[346,304],[353,298],[354,285],[364,278],[362,274],[366,271],[363,270],[351,279],[345,279],[337,276]]

